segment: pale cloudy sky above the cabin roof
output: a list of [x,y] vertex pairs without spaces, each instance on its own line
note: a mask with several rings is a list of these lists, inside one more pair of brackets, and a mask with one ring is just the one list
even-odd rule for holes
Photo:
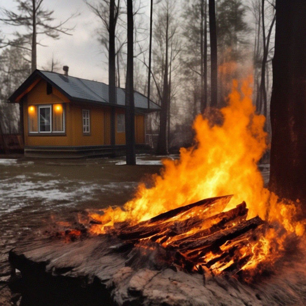
[[[144,0],[144,5],[147,2]],[[40,42],[47,45],[47,47],[38,46],[37,48],[38,69],[46,66],[53,54],[62,65],[69,66],[70,75],[108,83],[107,66],[103,64],[106,58],[97,41],[97,28],[101,26],[101,23],[85,2],[83,0],[44,0],[43,6],[54,10],[54,17],[58,20],[65,20],[72,13],[80,13],[80,15],[67,24],[69,27],[75,26],[73,36],[62,34],[58,40],[38,36]],[[0,0],[0,7],[14,10],[16,2]],[[148,12],[147,6],[145,13]],[[1,30],[9,37],[9,34],[17,29],[1,24]]]

